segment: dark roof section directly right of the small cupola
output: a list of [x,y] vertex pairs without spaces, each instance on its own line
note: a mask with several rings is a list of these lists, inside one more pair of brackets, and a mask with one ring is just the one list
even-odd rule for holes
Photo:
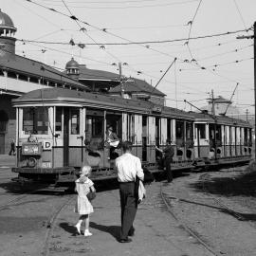
[[79,80],[97,80],[97,81],[119,81],[119,74],[97,70],[89,69],[85,64],[79,65],[80,77]]

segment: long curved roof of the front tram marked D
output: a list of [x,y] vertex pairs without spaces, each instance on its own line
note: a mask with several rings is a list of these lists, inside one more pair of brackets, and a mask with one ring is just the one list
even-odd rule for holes
[[188,112],[166,106],[158,106],[150,101],[122,99],[116,96],[93,94],[63,88],[45,88],[30,91],[12,100],[14,106],[21,105],[78,105],[94,108],[165,116],[175,119],[193,119]]

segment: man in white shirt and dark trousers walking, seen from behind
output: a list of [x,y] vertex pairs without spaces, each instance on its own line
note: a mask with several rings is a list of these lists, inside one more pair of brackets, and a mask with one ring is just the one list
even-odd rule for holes
[[134,235],[133,223],[137,212],[136,178],[144,179],[140,159],[131,154],[132,143],[122,143],[123,155],[116,159],[118,170],[120,206],[121,206],[121,232],[120,243],[129,243],[132,240],[128,235]]

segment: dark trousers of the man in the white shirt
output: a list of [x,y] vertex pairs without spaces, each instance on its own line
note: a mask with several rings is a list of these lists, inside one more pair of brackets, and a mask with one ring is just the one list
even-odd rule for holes
[[137,194],[135,182],[120,182],[120,206],[121,206],[121,232],[120,239],[127,239],[128,233],[133,232],[133,223],[137,212]]

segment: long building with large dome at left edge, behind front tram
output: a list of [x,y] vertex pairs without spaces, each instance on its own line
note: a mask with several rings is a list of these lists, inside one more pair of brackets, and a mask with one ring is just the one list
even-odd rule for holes
[[87,90],[72,76],[15,54],[16,31],[9,15],[0,9],[0,154],[9,153],[10,141],[16,137],[16,113],[11,106],[12,99],[50,86]]

